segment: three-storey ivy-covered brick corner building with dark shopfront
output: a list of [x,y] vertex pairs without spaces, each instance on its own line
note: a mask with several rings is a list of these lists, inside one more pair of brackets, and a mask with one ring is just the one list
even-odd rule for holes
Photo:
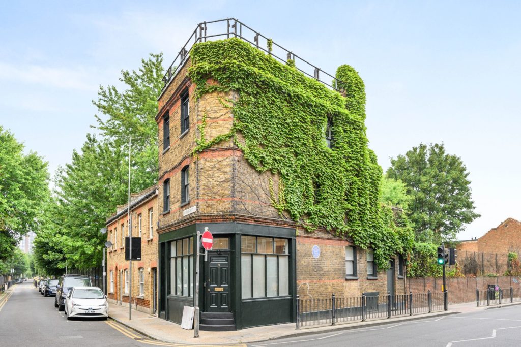
[[293,322],[297,294],[405,290],[404,240],[378,202],[354,69],[328,75],[227,19],[199,24],[164,80],[160,317],[180,323],[194,305],[205,229],[215,242],[200,263],[203,330]]

